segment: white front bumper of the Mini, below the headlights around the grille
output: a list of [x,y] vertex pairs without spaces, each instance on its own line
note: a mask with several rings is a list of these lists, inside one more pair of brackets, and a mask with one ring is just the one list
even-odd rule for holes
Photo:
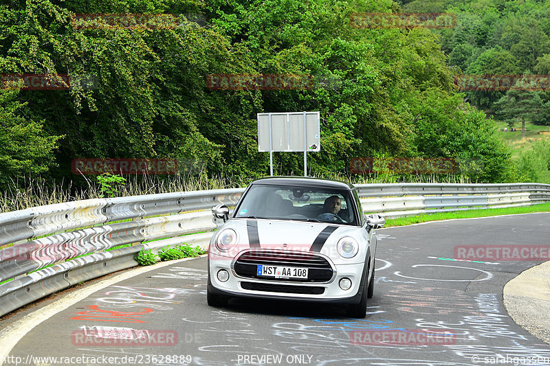
[[[368,268],[364,263],[331,264],[333,276],[327,282],[291,282],[285,279],[242,277],[234,271],[231,258],[208,258],[208,291],[229,297],[254,297],[298,301],[320,301],[333,304],[358,304]],[[229,279],[219,281],[217,273],[228,271]],[[351,288],[342,290],[342,278],[351,280]]]

